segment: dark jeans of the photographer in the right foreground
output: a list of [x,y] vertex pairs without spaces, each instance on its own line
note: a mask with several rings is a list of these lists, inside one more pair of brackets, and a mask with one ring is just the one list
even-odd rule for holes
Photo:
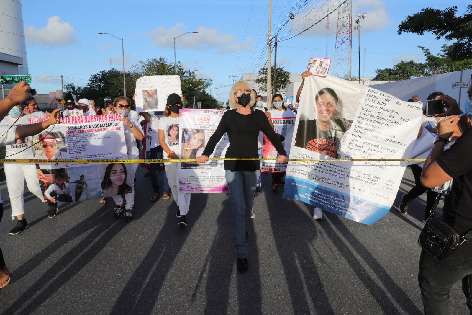
[[466,304],[469,306],[469,313],[472,314],[471,276],[472,255],[464,256],[462,251],[456,249],[449,257],[438,260],[422,250],[418,282],[423,298],[424,314],[451,314],[449,292],[454,284],[461,280]]

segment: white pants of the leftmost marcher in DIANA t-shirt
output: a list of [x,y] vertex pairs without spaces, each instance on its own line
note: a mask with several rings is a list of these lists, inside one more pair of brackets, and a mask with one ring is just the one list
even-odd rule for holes
[[5,178],[7,179],[8,195],[10,195],[11,219],[14,220],[17,215],[25,214],[25,201],[23,194],[26,186],[29,191],[41,199],[41,187],[39,186],[36,165],[18,165],[13,163],[5,163]]

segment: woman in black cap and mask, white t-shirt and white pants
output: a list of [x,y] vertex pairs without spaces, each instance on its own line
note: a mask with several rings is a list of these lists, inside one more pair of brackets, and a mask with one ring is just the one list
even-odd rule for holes
[[[159,131],[159,143],[164,150],[164,156],[167,154],[167,159],[180,159],[180,152],[178,152],[178,137],[180,133],[179,128],[179,110],[182,109],[182,98],[176,93],[172,93],[167,98],[166,110],[164,117],[159,119],[157,129]],[[180,162],[165,163],[167,178],[169,179],[169,187],[172,192],[172,197],[177,204],[177,218],[178,224],[187,226],[187,213],[190,205],[190,194],[180,193],[178,191],[177,173],[180,169]]]

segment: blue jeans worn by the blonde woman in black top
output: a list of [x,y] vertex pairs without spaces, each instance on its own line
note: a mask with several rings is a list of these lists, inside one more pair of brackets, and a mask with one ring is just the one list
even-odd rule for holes
[[235,248],[238,258],[247,257],[249,243],[246,239],[246,222],[251,217],[257,179],[259,179],[260,173],[260,170],[236,170],[233,172],[225,170],[226,183],[228,184],[233,206],[233,235],[236,239]]

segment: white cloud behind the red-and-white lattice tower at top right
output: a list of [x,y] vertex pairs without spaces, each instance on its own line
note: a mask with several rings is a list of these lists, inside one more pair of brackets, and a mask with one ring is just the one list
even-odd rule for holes
[[[313,4],[308,7],[303,12],[299,12],[295,15],[295,18],[290,20],[286,30],[291,30],[289,36],[284,35],[284,37],[291,37],[292,35],[302,32],[304,29],[312,26],[314,23],[317,23],[315,26],[312,26],[309,30],[300,34],[300,36],[320,36],[326,37],[326,23],[327,19],[324,18],[328,12],[333,11],[341,1],[323,1],[321,4]],[[361,32],[375,32],[380,29],[385,28],[390,24],[390,15],[387,13],[385,4],[380,0],[362,0],[359,2],[354,2],[352,5],[352,24],[355,26],[354,21],[358,18],[358,13],[367,12],[367,17],[361,20]],[[329,36],[336,36],[337,31],[337,16],[338,9],[335,9],[329,15]],[[285,32],[281,32],[285,34]]]

